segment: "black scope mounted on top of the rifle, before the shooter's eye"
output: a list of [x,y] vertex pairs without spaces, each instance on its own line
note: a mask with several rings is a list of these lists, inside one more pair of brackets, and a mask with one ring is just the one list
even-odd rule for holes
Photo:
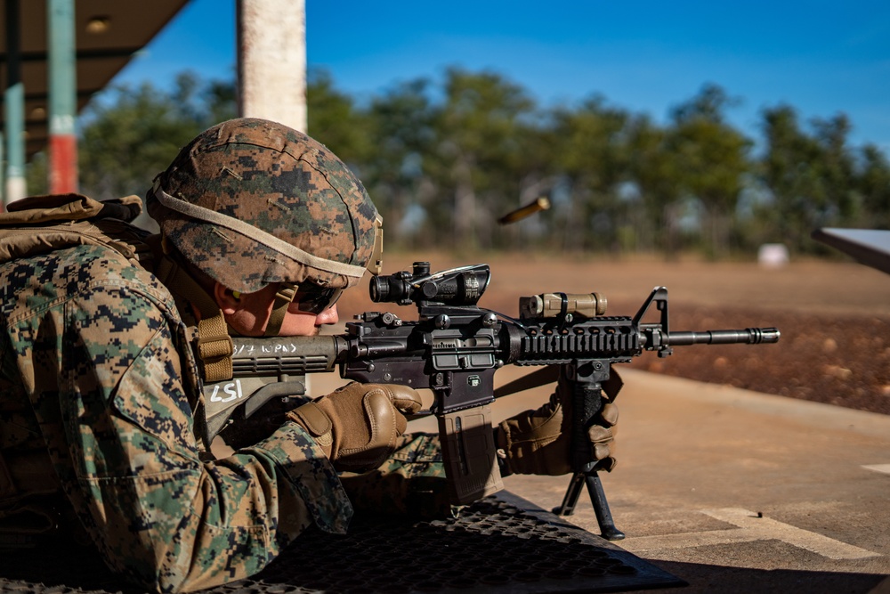
[[414,272],[376,276],[371,279],[371,301],[399,305],[475,305],[491,272],[488,264],[474,264],[430,273],[429,262],[415,262]]

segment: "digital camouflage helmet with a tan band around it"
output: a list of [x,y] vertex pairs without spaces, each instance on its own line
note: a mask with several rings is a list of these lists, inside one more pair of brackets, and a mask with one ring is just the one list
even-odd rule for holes
[[309,136],[264,119],[207,129],[155,178],[150,215],[214,281],[356,284],[379,264],[381,218],[360,181]]

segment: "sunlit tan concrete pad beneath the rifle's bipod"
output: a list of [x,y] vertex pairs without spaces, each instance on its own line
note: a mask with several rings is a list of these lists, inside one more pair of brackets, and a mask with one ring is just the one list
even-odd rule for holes
[[[528,372],[499,370],[496,386]],[[601,474],[615,544],[690,583],[684,592],[887,588],[890,417],[619,370],[619,465]],[[312,378],[313,392],[340,382]],[[504,419],[550,387],[498,400]],[[433,419],[411,423],[434,430]],[[544,509],[568,476],[509,476]],[[586,493],[568,519],[599,533]]]

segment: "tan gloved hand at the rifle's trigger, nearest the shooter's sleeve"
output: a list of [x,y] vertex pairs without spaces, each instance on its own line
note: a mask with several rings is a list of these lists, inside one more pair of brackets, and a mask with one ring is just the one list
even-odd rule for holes
[[423,408],[415,390],[394,384],[341,387],[287,413],[315,438],[337,470],[361,472],[380,466],[408,427],[402,412]]

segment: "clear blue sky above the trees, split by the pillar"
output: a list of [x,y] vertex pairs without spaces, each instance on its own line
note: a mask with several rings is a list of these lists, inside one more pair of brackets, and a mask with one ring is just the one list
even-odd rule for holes
[[[183,69],[232,77],[234,0],[191,0],[115,82],[159,85]],[[788,103],[803,120],[851,118],[856,144],[890,154],[890,2],[306,0],[310,67],[358,99],[448,66],[493,70],[541,105],[594,94],[663,121],[706,83],[758,114]]]

